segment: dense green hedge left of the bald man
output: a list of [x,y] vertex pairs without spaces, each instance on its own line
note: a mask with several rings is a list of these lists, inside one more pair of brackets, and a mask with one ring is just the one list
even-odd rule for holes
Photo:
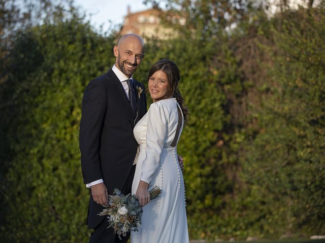
[[[73,14],[13,43],[1,92],[0,232],[5,242],[83,242],[88,191],[79,152],[86,84],[113,63],[114,36]],[[45,227],[44,227],[45,226]]]

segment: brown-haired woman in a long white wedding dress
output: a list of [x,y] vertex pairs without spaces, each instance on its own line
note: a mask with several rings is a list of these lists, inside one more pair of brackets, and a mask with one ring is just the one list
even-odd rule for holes
[[[185,189],[178,164],[176,145],[187,118],[187,109],[178,90],[179,69],[169,60],[160,60],[148,75],[153,102],[134,128],[140,145],[132,194],[143,207],[142,226],[131,233],[132,243],[189,242]],[[148,185],[163,192],[150,201]]]

